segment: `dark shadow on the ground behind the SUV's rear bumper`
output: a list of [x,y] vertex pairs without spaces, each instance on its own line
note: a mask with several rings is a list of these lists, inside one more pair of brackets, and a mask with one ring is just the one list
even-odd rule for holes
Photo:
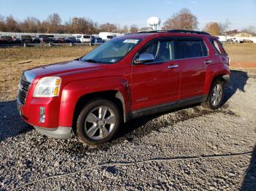
[[245,93],[244,87],[248,79],[249,77],[246,71],[230,70],[230,80],[232,85],[230,85],[230,87],[225,87],[224,104],[236,93],[237,90]]

